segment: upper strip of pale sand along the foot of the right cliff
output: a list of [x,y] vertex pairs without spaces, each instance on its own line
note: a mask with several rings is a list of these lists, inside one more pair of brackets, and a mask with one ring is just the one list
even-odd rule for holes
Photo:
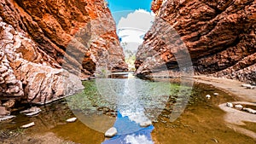
[[239,101],[256,102],[256,89],[246,89],[241,87],[241,83],[237,80],[226,78],[211,78],[207,76],[195,76],[195,82],[202,84],[211,84],[212,86],[223,90],[230,95],[236,95]]

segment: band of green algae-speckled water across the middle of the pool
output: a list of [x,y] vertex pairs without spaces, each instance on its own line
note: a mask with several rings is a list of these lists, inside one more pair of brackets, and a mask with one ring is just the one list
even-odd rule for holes
[[[83,84],[85,89],[81,93],[66,99],[73,111],[85,114],[96,113],[98,107],[108,107],[116,111],[117,107],[126,107],[135,101],[145,109],[163,109],[170,95],[172,98],[177,98],[179,93],[191,95],[189,87],[166,82],[148,82],[137,78],[102,78],[98,81],[84,81]],[[182,87],[183,90],[180,91]]]

